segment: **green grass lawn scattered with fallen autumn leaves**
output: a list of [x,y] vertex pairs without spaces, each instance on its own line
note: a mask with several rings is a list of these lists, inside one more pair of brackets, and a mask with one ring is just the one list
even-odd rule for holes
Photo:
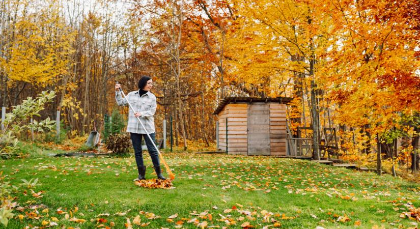
[[[125,228],[128,219],[133,228],[420,224],[400,218],[410,206],[420,207],[420,185],[388,175],[295,159],[165,153],[175,188],[146,189],[132,181],[137,176],[133,156],[50,157],[50,150],[32,150],[31,157],[0,164],[3,181],[19,185],[21,179],[38,178],[41,183],[11,193],[18,207],[7,228],[42,227],[43,221],[57,228]],[[155,178],[149,155],[144,158],[146,177]],[[31,189],[42,196],[34,197]],[[140,225],[134,223],[138,219]]]

